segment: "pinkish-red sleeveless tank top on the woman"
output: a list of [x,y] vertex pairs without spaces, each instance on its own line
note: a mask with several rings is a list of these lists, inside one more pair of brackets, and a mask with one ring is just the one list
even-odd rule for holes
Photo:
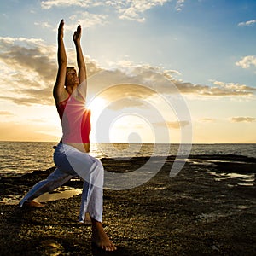
[[90,109],[73,96],[56,105],[61,119],[63,143],[90,143]]

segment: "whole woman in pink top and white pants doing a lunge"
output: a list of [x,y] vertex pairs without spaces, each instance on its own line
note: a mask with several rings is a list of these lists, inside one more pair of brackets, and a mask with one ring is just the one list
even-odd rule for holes
[[63,42],[64,20],[58,29],[58,73],[53,90],[57,111],[61,118],[62,138],[55,148],[55,172],[35,184],[20,201],[20,207],[43,207],[33,201],[39,195],[50,192],[72,177],[84,180],[79,222],[84,222],[88,212],[92,226],[92,242],[106,251],[116,247],[102,227],[102,187],[104,170],[100,160],[90,156],[90,111],[85,107],[86,67],[80,45],[81,26],[73,34],[77,52],[79,75],[74,67],[67,67],[67,55]]

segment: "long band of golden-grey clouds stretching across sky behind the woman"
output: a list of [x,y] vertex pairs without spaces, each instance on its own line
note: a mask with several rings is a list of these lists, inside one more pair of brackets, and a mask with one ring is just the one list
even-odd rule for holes
[[[67,50],[69,65],[76,63],[75,51]],[[56,47],[34,38],[0,38],[0,88],[3,100],[21,105],[53,105],[52,88],[57,72]],[[252,96],[255,88],[246,84],[213,81],[207,84],[192,84],[177,80],[177,70],[165,70],[148,64],[134,65],[131,61],[119,61],[112,69],[104,70],[96,61],[86,57],[89,77],[89,94],[94,96],[108,87],[104,92],[108,102],[116,102],[110,108],[131,106],[145,108],[143,101],[154,95],[182,93],[195,96]],[[9,84],[6,87],[6,84]]]

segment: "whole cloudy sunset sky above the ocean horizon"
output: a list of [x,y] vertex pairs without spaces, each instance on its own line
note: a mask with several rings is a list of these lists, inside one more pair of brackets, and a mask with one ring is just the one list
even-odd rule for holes
[[82,26],[92,143],[256,143],[256,1],[3,0],[0,140],[57,142],[56,29]]

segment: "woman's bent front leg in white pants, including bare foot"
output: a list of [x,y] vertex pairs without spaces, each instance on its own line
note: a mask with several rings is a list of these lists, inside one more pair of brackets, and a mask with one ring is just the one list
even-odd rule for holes
[[66,148],[66,155],[70,165],[73,166],[73,170],[84,179],[79,221],[84,222],[85,213],[89,212],[92,224],[92,242],[105,251],[116,250],[102,227],[104,175],[102,162],[71,147]]

